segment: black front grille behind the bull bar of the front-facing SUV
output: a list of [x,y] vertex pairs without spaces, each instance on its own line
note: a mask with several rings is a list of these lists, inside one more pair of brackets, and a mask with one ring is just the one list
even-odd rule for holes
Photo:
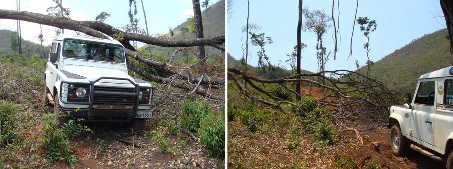
[[[119,87],[100,87],[94,86],[94,91],[102,92],[118,92],[118,93],[135,93],[135,88],[119,88]],[[119,96],[119,95],[96,95],[93,96],[93,108],[104,108],[105,106],[113,106],[110,109],[123,109],[125,107],[132,108],[135,97]]]

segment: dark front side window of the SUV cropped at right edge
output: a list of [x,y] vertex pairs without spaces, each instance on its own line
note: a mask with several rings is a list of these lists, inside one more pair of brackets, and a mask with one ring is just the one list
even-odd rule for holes
[[435,82],[420,82],[418,92],[415,97],[416,104],[434,105]]

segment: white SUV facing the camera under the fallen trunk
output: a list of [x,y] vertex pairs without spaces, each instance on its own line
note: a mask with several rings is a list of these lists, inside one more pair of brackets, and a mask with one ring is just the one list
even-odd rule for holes
[[123,46],[91,36],[56,36],[44,72],[43,101],[54,112],[96,121],[150,118],[153,89],[128,75]]

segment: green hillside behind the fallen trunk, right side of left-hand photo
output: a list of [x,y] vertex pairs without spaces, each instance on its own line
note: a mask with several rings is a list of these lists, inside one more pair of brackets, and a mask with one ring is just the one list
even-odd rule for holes
[[[221,34],[225,34],[225,0],[220,0],[219,2],[212,4],[208,10],[204,10],[201,13],[203,18],[203,30],[204,37],[212,37]],[[209,26],[210,20],[210,26]],[[189,28],[190,24],[188,21],[178,25],[176,28],[173,28],[174,35],[171,36],[168,32],[167,34],[162,35],[161,37],[178,40],[178,39],[193,39],[196,37],[194,32],[188,31],[187,33],[182,33],[181,28]],[[210,27],[210,28],[209,28]],[[195,47],[192,47],[196,49]],[[148,45],[140,47],[140,50],[147,50]],[[170,56],[173,54],[176,48],[173,47],[160,47],[151,45],[151,53],[162,54],[164,56]],[[205,47],[206,54],[210,55],[216,53],[221,56],[221,52],[213,47]]]

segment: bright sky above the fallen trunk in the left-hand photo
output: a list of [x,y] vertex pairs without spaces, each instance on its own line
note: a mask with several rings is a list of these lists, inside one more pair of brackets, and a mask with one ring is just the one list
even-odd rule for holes
[[[200,0],[203,1],[203,0]],[[210,0],[214,4],[219,0]],[[145,20],[140,0],[136,0],[139,26],[145,28]],[[189,15],[193,15],[192,0],[143,0],[146,17],[148,19],[149,34],[165,34],[169,27],[186,21]],[[52,0],[21,0],[21,10],[46,14],[46,9],[55,6]],[[110,13],[111,17],[104,22],[114,27],[123,27],[129,21],[128,0],[63,0],[63,6],[70,8],[72,19],[75,20],[94,20],[101,12]],[[0,9],[16,10],[16,0],[2,0]],[[39,24],[21,22],[22,35],[25,40],[39,43],[37,38],[40,28]],[[55,36],[53,27],[42,26],[45,39],[52,41]],[[16,31],[16,21],[0,19],[0,29]],[[74,33],[65,31],[65,33]],[[45,41],[47,45],[50,42]],[[140,46],[140,45],[139,45]]]

